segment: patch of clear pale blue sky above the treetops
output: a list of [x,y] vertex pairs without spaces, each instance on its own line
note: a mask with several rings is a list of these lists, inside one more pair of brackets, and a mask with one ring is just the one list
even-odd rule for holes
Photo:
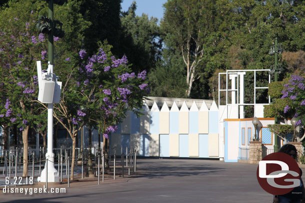
[[[131,5],[133,0],[122,0],[121,7],[123,11],[126,11]],[[151,16],[160,19],[163,17],[163,4],[167,0],[135,0],[136,1],[136,10],[135,14],[141,16],[142,13],[145,13],[150,18]]]

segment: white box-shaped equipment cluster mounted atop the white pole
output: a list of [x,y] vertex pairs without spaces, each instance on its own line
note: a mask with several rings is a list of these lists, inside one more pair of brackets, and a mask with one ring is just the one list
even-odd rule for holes
[[38,101],[45,104],[60,103],[61,82],[53,73],[53,65],[48,65],[47,70],[41,70],[41,61],[37,61]]

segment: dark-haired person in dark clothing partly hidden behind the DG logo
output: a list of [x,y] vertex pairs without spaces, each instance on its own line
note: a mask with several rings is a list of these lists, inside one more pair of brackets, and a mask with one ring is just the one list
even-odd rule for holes
[[[297,158],[297,151],[293,145],[285,144],[278,152],[290,155],[294,160]],[[273,196],[273,203],[305,203],[305,188],[302,181],[302,170],[299,169],[300,186],[295,187],[291,192],[285,195]]]

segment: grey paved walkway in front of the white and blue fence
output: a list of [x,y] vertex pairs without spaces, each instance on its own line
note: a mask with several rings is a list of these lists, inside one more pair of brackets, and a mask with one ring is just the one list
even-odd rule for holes
[[[117,166],[119,162],[116,163]],[[136,173],[124,178],[116,168],[97,185],[97,178],[80,178],[79,168],[70,187],[66,180],[48,186],[48,193],[3,193],[1,203],[271,203],[272,195],[259,186],[257,165],[216,160],[137,159]],[[56,168],[56,167],[55,167]],[[1,170],[1,169],[0,169]],[[2,176],[2,175],[0,175]],[[0,177],[1,178],[1,177]],[[2,177],[3,179],[3,177]],[[43,185],[21,186],[42,188]],[[21,188],[16,187],[16,188]],[[12,187],[15,188],[15,187]],[[51,193],[50,188],[65,193]],[[25,189],[23,189],[25,190]],[[27,189],[29,190],[29,189]],[[38,190],[38,189],[36,189]]]

